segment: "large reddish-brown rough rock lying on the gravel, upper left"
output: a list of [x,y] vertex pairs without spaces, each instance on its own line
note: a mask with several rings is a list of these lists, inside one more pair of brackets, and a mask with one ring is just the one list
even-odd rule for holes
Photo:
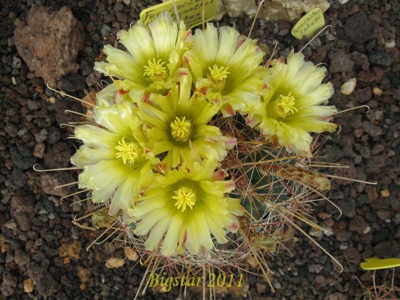
[[44,82],[79,68],[76,57],[83,45],[83,26],[68,6],[58,11],[41,5],[31,7],[26,21],[15,28],[14,37],[19,55]]

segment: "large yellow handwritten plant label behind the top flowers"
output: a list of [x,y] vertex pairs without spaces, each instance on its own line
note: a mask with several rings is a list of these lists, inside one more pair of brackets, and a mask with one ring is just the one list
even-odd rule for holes
[[[206,0],[204,6],[204,22],[212,20],[215,17],[217,3],[218,0]],[[175,4],[179,18],[186,24],[186,29],[190,29],[202,23],[203,0],[175,0]],[[169,14],[174,21],[176,21],[172,0],[144,9],[140,12],[140,19],[143,24],[147,24],[165,10],[169,11]]]

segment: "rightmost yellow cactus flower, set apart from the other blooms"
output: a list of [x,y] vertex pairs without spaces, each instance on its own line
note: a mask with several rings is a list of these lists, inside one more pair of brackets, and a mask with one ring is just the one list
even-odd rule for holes
[[273,61],[264,78],[261,108],[250,109],[247,124],[258,128],[275,145],[311,156],[309,133],[333,132],[336,128],[329,122],[336,107],[320,105],[333,94],[330,82],[321,84],[325,71],[324,67],[304,62],[304,55],[293,49],[287,63],[283,59]]

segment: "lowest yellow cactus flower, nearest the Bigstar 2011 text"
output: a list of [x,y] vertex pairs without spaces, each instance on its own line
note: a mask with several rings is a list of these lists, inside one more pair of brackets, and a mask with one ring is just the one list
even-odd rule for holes
[[[226,230],[235,232],[244,208],[240,200],[224,196],[234,189],[232,180],[219,180],[214,172],[216,161],[204,160],[187,169],[158,174],[145,188],[139,202],[128,211],[136,224],[135,234],[148,235],[146,249],[161,245],[165,256],[182,252],[206,255],[218,243],[227,241]],[[163,238],[164,237],[164,238]]]

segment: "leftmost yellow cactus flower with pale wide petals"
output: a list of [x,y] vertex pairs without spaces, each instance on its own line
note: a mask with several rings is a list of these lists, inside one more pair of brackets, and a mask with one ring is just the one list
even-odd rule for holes
[[[99,99],[106,102],[105,95]],[[158,162],[145,146],[134,109],[131,103],[96,106],[93,117],[103,128],[85,124],[75,129],[75,137],[83,142],[71,157],[74,165],[83,168],[78,186],[92,189],[94,203],[112,197],[111,215],[132,207]]]

